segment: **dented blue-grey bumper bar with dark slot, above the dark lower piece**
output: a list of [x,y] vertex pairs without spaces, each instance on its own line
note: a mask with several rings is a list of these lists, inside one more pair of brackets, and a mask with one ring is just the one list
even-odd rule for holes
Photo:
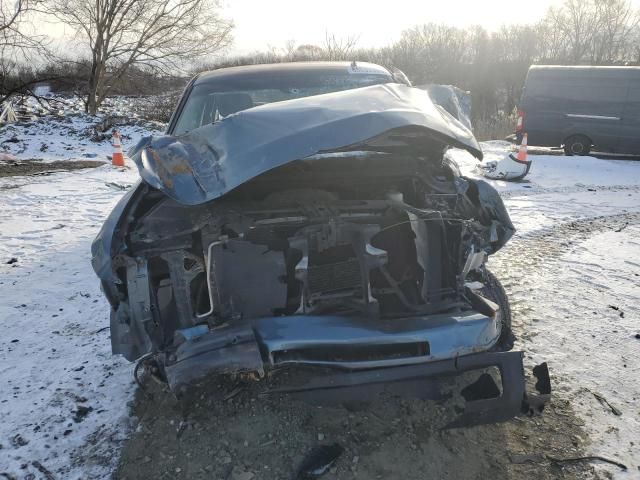
[[368,319],[331,315],[264,317],[213,330],[177,331],[164,363],[174,391],[210,376],[285,366],[372,370],[489,350],[500,336],[496,312]]

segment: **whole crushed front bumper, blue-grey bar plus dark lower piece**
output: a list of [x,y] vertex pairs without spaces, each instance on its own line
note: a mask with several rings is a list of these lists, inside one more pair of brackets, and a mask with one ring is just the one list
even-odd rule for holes
[[[537,414],[550,399],[546,364],[533,369],[537,392],[530,394],[522,352],[474,353],[460,348],[477,341],[478,335],[487,335],[482,326],[491,322],[484,324],[477,313],[469,318],[442,318],[440,322],[431,318],[430,328],[414,318],[404,327],[400,322],[398,331],[378,332],[377,337],[373,327],[345,325],[344,319],[336,330],[335,323],[334,328],[330,324],[337,320],[329,317],[323,330],[307,317],[305,328],[296,330],[292,326],[295,319],[282,318],[281,323],[225,327],[202,335],[186,332],[177,350],[162,362],[171,389],[181,395],[200,380],[216,375],[247,372],[262,378],[267,369],[302,370],[301,375],[287,375],[284,384],[265,379],[262,393],[287,394],[313,403],[363,402],[383,392],[454,402],[457,417],[448,424],[451,428]],[[285,328],[287,321],[293,322],[289,328]],[[465,338],[463,332],[475,332],[475,338]],[[343,345],[336,340],[338,333]],[[441,342],[449,339],[448,347],[454,353],[443,358],[445,352],[438,349],[442,343],[431,351],[428,340],[435,338]],[[344,346],[348,349],[341,350]],[[402,352],[414,348],[422,355],[402,358]],[[314,357],[318,351],[331,352],[342,360],[328,356],[319,361]],[[282,352],[287,355],[282,356]],[[360,353],[369,357],[372,352],[382,353],[374,360],[354,361],[349,357]],[[434,356],[435,352],[439,355]],[[385,355],[390,358],[383,358]]]

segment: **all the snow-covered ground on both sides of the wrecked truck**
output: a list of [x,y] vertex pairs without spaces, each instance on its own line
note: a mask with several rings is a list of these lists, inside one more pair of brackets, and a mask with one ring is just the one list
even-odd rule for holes
[[[68,124],[74,131],[88,125],[78,119]],[[125,131],[131,137],[125,148],[146,134],[134,127]],[[60,123],[30,128],[0,130],[0,151],[20,159],[110,154],[108,143],[84,142]],[[22,146],[5,143],[13,136]],[[44,142],[49,146],[40,151]],[[509,147],[487,142],[483,148],[490,159]],[[450,154],[466,174],[477,175],[470,155]],[[89,248],[136,179],[135,169],[108,165],[0,178],[0,474],[42,477],[44,469],[56,478],[107,477],[134,428],[127,405],[135,391],[132,365],[110,354],[108,305]],[[525,246],[522,255],[528,238],[560,224],[640,211],[640,162],[535,156],[524,182],[491,183],[518,228],[514,242]],[[531,361],[549,361],[556,394],[572,398],[584,419],[589,448],[630,467],[621,478],[637,475],[640,464],[634,384],[640,373],[640,340],[634,337],[640,333],[639,234],[640,227],[630,225],[568,243],[556,267],[536,279],[537,307],[519,345]],[[517,285],[508,289],[518,294]]]

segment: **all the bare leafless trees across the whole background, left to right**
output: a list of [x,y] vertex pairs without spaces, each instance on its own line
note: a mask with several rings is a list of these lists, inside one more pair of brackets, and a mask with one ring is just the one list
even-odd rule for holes
[[[58,54],[39,68],[20,61],[47,51],[42,36],[27,33],[25,14],[33,9],[73,30],[79,45],[74,58]],[[360,60],[399,68],[414,85],[468,90],[474,120],[483,121],[513,111],[532,64],[640,65],[639,20],[630,0],[565,0],[537,23],[496,31],[427,23],[381,48],[360,46],[356,35],[327,34],[318,45],[290,41],[282,48],[207,62],[232,43],[233,23],[222,15],[218,0],[0,0],[0,100],[45,78],[66,82],[95,113],[108,95],[146,93],[152,85],[175,87],[199,70]]]

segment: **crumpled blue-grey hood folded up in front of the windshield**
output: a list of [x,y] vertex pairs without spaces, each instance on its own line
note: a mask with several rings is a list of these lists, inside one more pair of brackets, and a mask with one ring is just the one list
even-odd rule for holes
[[[362,146],[394,130],[394,139],[424,130],[481,159],[473,134],[427,92],[400,84],[375,85],[271,103],[243,110],[181,135],[146,137],[129,156],[150,186],[197,205],[295,160]],[[409,133],[410,132],[410,133]],[[421,133],[421,132],[420,132]]]

